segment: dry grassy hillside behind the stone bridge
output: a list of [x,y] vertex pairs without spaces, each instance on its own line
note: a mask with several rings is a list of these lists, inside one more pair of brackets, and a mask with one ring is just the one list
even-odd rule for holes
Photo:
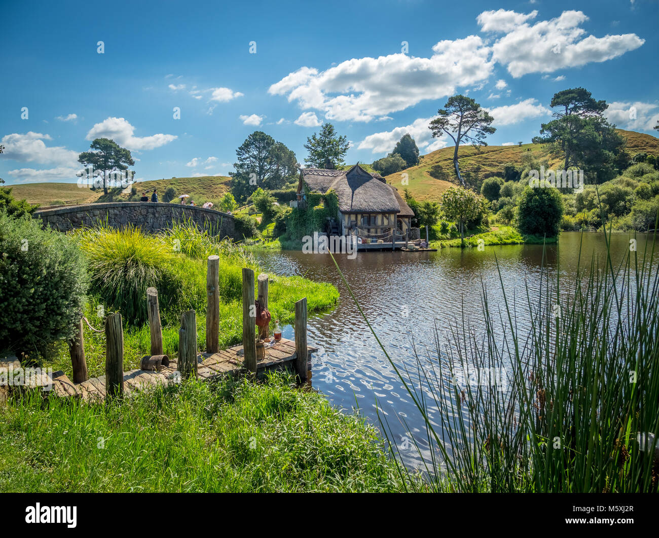
[[[229,191],[230,177],[207,175],[204,177],[173,177],[171,179],[154,179],[139,181],[134,187],[138,193],[148,191],[149,196],[158,189],[159,199],[162,200],[167,187],[174,187],[177,196],[190,194],[190,198],[197,204],[204,202],[219,202],[219,198]],[[81,188],[76,183],[25,183],[23,185],[9,185],[12,194],[18,199],[25,198],[30,204],[50,206],[57,204],[86,204],[91,202],[111,202],[128,200],[130,193],[119,192],[113,189],[111,193],[92,191]],[[190,200],[188,198],[188,200]]]

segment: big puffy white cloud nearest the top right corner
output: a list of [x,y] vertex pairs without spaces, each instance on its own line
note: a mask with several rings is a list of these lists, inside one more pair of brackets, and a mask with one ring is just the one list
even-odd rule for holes
[[596,38],[580,28],[588,17],[581,11],[530,24],[537,11],[484,11],[478,18],[482,32],[505,34],[492,45],[492,59],[505,65],[513,77],[527,73],[552,73],[557,69],[602,62],[637,49],[645,40],[636,34]]

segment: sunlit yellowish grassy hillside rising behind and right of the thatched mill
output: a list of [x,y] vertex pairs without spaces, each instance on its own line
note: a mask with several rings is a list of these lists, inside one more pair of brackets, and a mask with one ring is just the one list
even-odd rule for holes
[[[627,152],[632,156],[639,152],[659,156],[658,138],[635,131],[622,129],[618,131],[627,138]],[[420,164],[404,170],[408,174],[409,185],[402,185],[401,173],[387,175],[387,183],[391,183],[400,191],[409,189],[417,200],[438,202],[446,189],[457,185],[453,170],[453,149],[454,146],[451,146],[424,155]],[[507,164],[519,167],[522,164],[523,154],[529,151],[534,152],[539,158],[546,158],[551,167],[562,167],[562,159],[550,157],[542,144],[482,146],[480,149],[474,146],[460,146],[460,171],[467,183],[480,185],[488,177],[501,176],[503,167]]]

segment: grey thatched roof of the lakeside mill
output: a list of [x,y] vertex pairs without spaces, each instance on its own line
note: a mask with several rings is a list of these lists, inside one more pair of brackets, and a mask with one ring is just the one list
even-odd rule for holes
[[311,191],[334,189],[341,213],[411,213],[405,200],[380,174],[368,173],[358,164],[347,171],[305,168],[302,177]]

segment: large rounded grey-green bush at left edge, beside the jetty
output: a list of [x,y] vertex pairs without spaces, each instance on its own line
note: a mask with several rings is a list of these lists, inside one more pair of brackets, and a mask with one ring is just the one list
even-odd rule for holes
[[88,286],[71,238],[0,211],[0,350],[43,355],[70,338]]

